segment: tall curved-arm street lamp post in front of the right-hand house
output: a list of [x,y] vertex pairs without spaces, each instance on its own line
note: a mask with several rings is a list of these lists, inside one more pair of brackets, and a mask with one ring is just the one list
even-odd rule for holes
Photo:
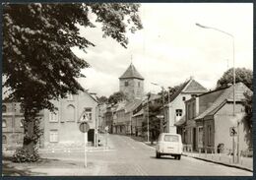
[[[228,33],[224,30],[219,30],[213,27],[207,27],[207,26],[203,26],[200,24],[196,24],[197,27],[200,27],[202,29],[211,29],[211,30],[217,30],[220,32],[223,32],[224,34],[228,35],[229,37],[232,38],[232,59],[233,59],[233,118],[235,116],[235,89],[234,89],[234,85],[235,85],[235,68],[234,68],[234,36],[231,33]],[[237,120],[237,162],[239,162],[239,122]],[[234,161],[234,154],[233,154],[233,161]]]

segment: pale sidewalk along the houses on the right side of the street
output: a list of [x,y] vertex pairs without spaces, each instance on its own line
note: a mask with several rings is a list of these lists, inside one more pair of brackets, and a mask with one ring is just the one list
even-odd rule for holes
[[[156,142],[152,145],[151,142],[143,142],[150,147],[156,147]],[[199,153],[199,152],[186,152],[183,151],[182,155],[205,160],[208,162],[214,162],[229,167],[235,167],[243,170],[253,172],[253,158],[252,157],[241,157],[239,163],[232,163],[232,156],[225,153]],[[235,158],[236,160],[236,158]]]

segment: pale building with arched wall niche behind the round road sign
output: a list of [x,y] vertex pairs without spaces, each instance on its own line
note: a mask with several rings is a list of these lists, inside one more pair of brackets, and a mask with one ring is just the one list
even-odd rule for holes
[[79,130],[82,121],[87,120],[89,145],[96,146],[97,101],[87,91],[69,94],[67,98],[53,101],[58,108],[55,113],[44,111],[45,147],[79,147],[84,144],[84,134]]

